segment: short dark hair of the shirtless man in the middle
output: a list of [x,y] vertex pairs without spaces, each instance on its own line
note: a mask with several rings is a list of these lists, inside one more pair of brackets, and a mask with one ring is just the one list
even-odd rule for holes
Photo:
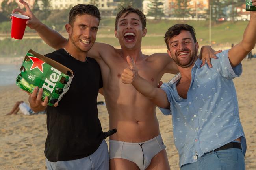
[[139,18],[141,19],[141,23],[142,23],[142,29],[145,29],[146,24],[147,24],[147,19],[146,16],[143,14],[143,12],[140,9],[135,9],[132,6],[128,6],[128,7],[121,7],[121,11],[119,11],[119,13],[117,13],[117,17],[115,18],[115,30],[117,30],[117,22],[119,20],[119,18],[124,14],[124,17],[127,16],[129,13],[135,13],[137,15],[139,15]]

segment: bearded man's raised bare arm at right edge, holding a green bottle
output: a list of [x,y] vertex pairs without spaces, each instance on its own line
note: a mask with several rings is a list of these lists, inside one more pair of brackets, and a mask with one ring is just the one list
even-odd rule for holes
[[[253,0],[256,5],[256,0]],[[256,11],[251,11],[250,21],[243,33],[242,41],[228,51],[228,58],[232,67],[237,66],[246,55],[254,49],[256,43]]]

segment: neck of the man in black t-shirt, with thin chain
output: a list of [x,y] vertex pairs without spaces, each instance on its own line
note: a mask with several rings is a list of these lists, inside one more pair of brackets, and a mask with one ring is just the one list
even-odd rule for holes
[[68,42],[64,48],[67,50],[67,52],[74,58],[76,58],[76,60],[79,61],[86,61],[86,56],[87,56],[87,52],[84,51],[80,51],[79,49],[77,49],[74,44],[72,42]]

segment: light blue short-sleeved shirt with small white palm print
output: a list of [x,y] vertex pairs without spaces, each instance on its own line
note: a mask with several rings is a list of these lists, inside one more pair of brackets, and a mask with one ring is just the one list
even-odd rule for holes
[[191,85],[187,99],[180,97],[176,75],[161,88],[166,92],[170,109],[160,108],[164,115],[172,115],[174,143],[180,156],[180,166],[197,161],[204,153],[217,149],[241,137],[246,152],[245,134],[239,119],[235,77],[242,73],[242,64],[232,68],[228,50],[212,59],[212,68],[200,67],[197,60],[191,70]]

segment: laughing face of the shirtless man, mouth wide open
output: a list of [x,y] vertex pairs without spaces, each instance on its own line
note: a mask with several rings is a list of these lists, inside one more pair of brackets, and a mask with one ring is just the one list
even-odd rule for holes
[[140,48],[141,39],[147,33],[147,29],[142,29],[141,20],[136,13],[124,13],[117,22],[115,37],[118,38],[122,48]]

